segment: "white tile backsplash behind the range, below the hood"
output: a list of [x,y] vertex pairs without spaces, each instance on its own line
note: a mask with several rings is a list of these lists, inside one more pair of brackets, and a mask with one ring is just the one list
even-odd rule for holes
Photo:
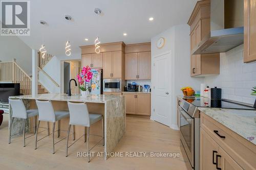
[[256,96],[250,95],[256,86],[256,63],[243,62],[243,48],[240,45],[220,54],[220,75],[205,77],[210,87],[222,88],[222,98],[254,104]]

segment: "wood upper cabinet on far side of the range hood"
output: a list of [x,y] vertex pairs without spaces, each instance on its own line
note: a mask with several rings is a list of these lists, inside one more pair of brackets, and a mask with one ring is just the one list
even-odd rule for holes
[[[205,35],[210,32],[210,1],[199,1],[191,14],[190,26],[190,52],[199,45]],[[190,55],[190,75],[207,76],[220,74],[220,54]]]

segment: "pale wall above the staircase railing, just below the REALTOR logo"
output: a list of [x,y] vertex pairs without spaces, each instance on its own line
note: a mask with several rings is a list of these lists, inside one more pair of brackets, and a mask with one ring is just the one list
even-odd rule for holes
[[32,75],[32,49],[16,36],[0,36],[0,61],[12,61],[13,58]]

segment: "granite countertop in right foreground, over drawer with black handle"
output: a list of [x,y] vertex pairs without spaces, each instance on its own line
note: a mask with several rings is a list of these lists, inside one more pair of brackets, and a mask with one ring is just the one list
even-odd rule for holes
[[198,108],[220,124],[256,144],[256,110]]

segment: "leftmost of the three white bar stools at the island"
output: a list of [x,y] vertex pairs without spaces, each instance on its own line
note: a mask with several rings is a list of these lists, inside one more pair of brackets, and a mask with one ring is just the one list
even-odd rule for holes
[[[26,120],[27,118],[34,117],[34,132],[36,129],[36,120],[35,116],[38,115],[38,110],[37,109],[31,109],[31,110],[26,110],[26,107],[21,99],[9,99],[9,104],[12,107],[12,119],[11,119],[11,124],[10,124],[10,129],[9,129],[9,143],[11,143],[11,130],[12,130],[12,123],[14,118],[22,118],[24,119],[24,124],[23,124],[23,140],[24,140],[24,146],[25,144],[25,127],[26,127]],[[14,136],[14,135],[13,135]],[[31,135],[33,136],[33,135]],[[31,137],[28,136],[28,137]],[[27,138],[28,138],[27,137]]]

